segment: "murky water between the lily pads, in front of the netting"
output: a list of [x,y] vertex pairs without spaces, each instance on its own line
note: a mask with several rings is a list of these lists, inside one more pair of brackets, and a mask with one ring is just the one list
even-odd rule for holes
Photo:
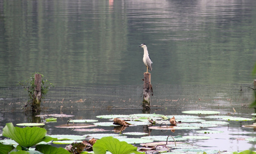
[[[150,113],[163,114],[163,115],[188,115],[181,113],[182,110],[154,110]],[[233,109],[216,109],[219,111],[219,115],[231,115],[236,117],[244,117],[251,118],[253,115],[251,113],[255,113],[252,108],[236,108],[237,113],[234,113]],[[122,115],[130,115],[142,113],[141,110],[90,110],[90,111],[69,111],[69,112],[60,112],[60,111],[45,111],[41,114],[67,114],[74,115],[71,117],[72,119],[96,119],[99,122],[106,122],[108,119],[96,118],[97,115],[109,115],[109,114],[122,114]],[[43,118],[34,117],[30,113],[0,113],[1,122],[0,127],[3,128],[6,123],[12,122],[14,125],[17,123],[24,122],[39,122],[44,121]],[[220,119],[209,119],[204,118],[207,115],[199,115],[200,119],[204,119],[206,121],[219,121]],[[57,122],[54,123],[46,123],[44,128],[47,130],[48,135],[56,135],[56,134],[69,134],[69,135],[85,135],[90,133],[101,133],[101,132],[78,132],[68,128],[56,128],[60,124],[66,124],[70,118],[57,118]],[[223,121],[223,120],[220,120]],[[109,122],[109,121],[108,121]],[[200,123],[200,122],[198,122]],[[242,125],[250,125],[253,124],[253,121],[228,121],[229,124],[219,124],[217,127],[205,127],[196,130],[176,130],[175,132],[171,132],[170,130],[147,130],[146,126],[131,126],[127,127],[123,130],[125,132],[145,132],[145,130],[150,132],[151,136],[161,135],[161,136],[209,136],[210,139],[188,139],[185,141],[181,141],[184,143],[190,143],[193,145],[199,146],[201,149],[211,149],[211,150],[220,150],[220,151],[243,151],[243,150],[256,150],[255,142],[249,142],[244,140],[245,138],[255,137],[255,130],[253,128],[245,128],[241,127]],[[109,130],[103,133],[114,133],[112,132],[114,127],[91,127],[91,128],[102,128],[105,130]],[[197,133],[197,130],[221,130],[224,133],[210,133],[210,134],[201,134]],[[2,129],[0,129],[1,133]],[[147,132],[148,133],[148,132]],[[118,134],[118,133],[117,133]],[[128,137],[142,137],[142,136],[131,136]],[[0,139],[3,139],[3,136],[0,136]],[[61,146],[65,147],[65,145],[53,145],[53,146]]]

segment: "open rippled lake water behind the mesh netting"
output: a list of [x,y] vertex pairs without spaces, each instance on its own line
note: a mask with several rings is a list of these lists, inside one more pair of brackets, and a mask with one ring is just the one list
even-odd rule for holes
[[255,0],[0,0],[0,86],[251,83]]

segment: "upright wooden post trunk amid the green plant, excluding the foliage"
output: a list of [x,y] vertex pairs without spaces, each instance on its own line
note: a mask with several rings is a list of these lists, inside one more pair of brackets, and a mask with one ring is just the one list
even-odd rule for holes
[[33,95],[33,103],[32,103],[32,111],[38,112],[40,111],[41,104],[41,74],[35,74],[35,87],[34,87],[34,95]]

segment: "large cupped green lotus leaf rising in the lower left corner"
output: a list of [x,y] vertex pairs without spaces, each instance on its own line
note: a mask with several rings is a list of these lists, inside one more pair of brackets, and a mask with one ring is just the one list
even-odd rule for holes
[[12,123],[7,123],[3,128],[3,136],[9,137],[23,147],[31,147],[43,140],[46,130],[40,127],[14,127]]

